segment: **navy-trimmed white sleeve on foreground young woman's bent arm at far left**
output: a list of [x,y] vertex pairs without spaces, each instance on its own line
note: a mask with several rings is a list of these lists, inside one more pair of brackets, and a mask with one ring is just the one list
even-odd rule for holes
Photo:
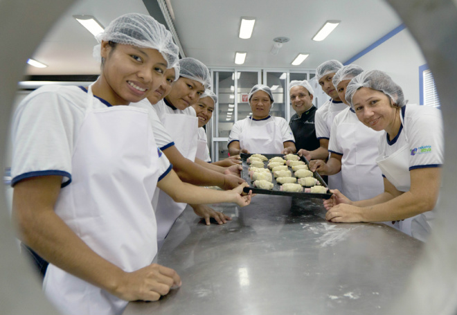
[[[36,92],[36,93],[35,93]],[[11,185],[30,177],[62,176],[71,182],[75,130],[84,113],[60,93],[39,90],[21,102],[12,123]]]

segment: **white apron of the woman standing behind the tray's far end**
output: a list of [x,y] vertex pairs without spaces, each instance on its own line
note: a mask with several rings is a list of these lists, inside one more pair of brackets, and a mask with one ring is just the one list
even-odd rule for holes
[[247,149],[250,153],[279,154],[284,150],[283,135],[274,118],[262,126],[252,125],[252,119],[240,134],[240,148]]

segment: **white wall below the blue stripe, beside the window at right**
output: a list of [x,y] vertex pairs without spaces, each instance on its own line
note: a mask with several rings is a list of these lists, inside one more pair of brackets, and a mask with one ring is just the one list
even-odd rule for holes
[[426,61],[406,28],[351,63],[364,70],[385,71],[402,87],[410,104],[420,103],[419,66]]

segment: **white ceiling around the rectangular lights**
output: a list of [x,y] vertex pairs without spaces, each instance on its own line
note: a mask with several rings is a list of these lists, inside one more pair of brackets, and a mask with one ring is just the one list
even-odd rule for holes
[[[148,1],[156,0],[144,0]],[[210,67],[239,67],[235,51],[247,51],[244,67],[315,69],[321,62],[346,62],[402,21],[382,0],[170,0],[174,26],[187,57]],[[103,26],[127,12],[148,14],[143,0],[80,0],[57,22],[33,57],[48,67],[28,66],[26,75],[98,73],[93,36],[72,15],[93,15]],[[152,15],[159,14],[156,12]],[[161,14],[161,13],[160,13]],[[240,39],[242,16],[256,17],[251,39]],[[312,37],[328,19],[341,24],[323,42]],[[289,37],[278,55],[271,55],[274,37]],[[300,66],[291,62],[310,53]]]

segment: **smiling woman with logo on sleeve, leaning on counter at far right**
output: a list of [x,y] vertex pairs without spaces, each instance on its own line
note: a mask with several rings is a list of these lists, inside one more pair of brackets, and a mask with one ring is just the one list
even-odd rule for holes
[[401,231],[426,240],[440,190],[443,163],[439,109],[406,105],[402,88],[382,71],[365,71],[346,88],[346,100],[364,125],[384,131],[377,164],[384,192],[351,201],[338,190],[324,201],[331,222],[398,221]]

